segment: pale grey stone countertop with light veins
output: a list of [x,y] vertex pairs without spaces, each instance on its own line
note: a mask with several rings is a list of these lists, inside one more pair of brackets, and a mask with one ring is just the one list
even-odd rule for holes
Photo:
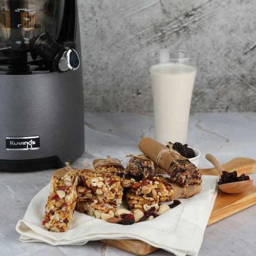
[[[121,160],[138,153],[141,137],[153,137],[153,116],[142,113],[97,113],[84,117],[86,151],[73,165],[111,155]],[[202,153],[199,166],[210,167],[203,155],[211,153],[225,163],[234,157],[256,159],[256,113],[195,114],[189,120],[188,143]],[[32,197],[47,183],[53,170],[1,173],[0,255],[130,255],[89,242],[84,246],[50,246],[19,242],[15,225],[22,219]],[[256,180],[256,175],[251,175]],[[255,182],[254,182],[255,183]],[[255,255],[256,206],[206,228],[199,255]],[[159,250],[153,255],[167,255]]]

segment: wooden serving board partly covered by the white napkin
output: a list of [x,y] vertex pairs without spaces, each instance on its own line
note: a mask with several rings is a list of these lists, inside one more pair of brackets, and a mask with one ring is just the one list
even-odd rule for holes
[[[239,175],[242,173],[256,173],[256,161],[250,158],[234,158],[228,163],[223,164],[222,167],[226,169],[227,172],[237,170]],[[218,175],[216,168],[200,169],[200,172],[203,175]],[[256,186],[253,186],[253,188],[245,194],[225,194],[219,190],[207,226],[255,204]],[[132,239],[101,240],[100,242],[137,255],[146,255],[158,250],[158,248],[152,245]]]

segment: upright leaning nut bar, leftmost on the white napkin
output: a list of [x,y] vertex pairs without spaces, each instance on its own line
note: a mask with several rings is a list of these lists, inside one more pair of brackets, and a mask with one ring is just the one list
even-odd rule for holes
[[50,231],[63,232],[69,229],[76,205],[78,172],[59,169],[53,175],[50,195],[47,200],[42,226]]

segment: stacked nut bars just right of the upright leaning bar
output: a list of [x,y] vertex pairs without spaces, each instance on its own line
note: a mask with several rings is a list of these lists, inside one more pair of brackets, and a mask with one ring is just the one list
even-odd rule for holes
[[[122,203],[123,188],[118,176],[100,171],[84,169],[80,172],[83,196],[78,199],[76,210],[87,213],[95,218],[108,219],[114,217],[114,211]],[[87,193],[89,192],[89,193]],[[86,199],[83,200],[82,198]]]

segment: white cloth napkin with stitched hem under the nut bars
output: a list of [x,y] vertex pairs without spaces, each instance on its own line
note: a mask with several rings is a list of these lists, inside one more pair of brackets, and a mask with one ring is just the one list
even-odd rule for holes
[[176,255],[197,255],[203,241],[210,212],[217,196],[216,176],[203,176],[200,194],[182,199],[181,204],[152,221],[120,225],[74,213],[67,232],[51,232],[41,227],[49,185],[31,200],[16,230],[22,242],[51,245],[84,245],[101,239],[138,239]]

